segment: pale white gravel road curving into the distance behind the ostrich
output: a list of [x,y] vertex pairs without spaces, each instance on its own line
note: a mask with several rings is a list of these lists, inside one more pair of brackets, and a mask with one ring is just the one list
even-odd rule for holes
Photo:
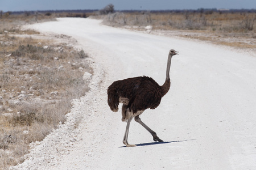
[[[73,101],[67,122],[31,144],[26,161],[11,169],[256,169],[256,57],[193,40],[127,31],[100,20],[61,18],[30,25],[72,36],[90,55],[91,90]],[[113,113],[106,89],[118,79],[151,76],[160,85],[170,49],[171,89],[142,121],[163,143]],[[75,122],[80,121],[77,128]]]

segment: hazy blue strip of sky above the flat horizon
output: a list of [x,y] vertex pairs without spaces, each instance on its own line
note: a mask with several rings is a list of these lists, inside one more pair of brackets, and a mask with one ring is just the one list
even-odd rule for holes
[[0,10],[196,10],[198,8],[256,9],[256,0],[0,0]]

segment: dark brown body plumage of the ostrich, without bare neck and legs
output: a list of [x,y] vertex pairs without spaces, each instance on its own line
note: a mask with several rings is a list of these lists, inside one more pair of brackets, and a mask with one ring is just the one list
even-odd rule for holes
[[119,97],[129,99],[127,108],[133,113],[148,108],[155,109],[170,88],[170,80],[159,86],[148,76],[138,76],[114,82],[108,88],[108,104],[113,112],[118,111]]

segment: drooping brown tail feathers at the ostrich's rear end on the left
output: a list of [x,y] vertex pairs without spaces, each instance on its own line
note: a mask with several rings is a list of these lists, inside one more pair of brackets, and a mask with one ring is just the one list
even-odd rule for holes
[[112,88],[108,88],[108,104],[113,112],[118,111],[119,97],[117,91]]

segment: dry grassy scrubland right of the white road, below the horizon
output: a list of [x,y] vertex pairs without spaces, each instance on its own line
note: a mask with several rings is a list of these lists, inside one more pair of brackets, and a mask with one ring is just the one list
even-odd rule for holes
[[[99,17],[99,16],[98,16]],[[182,36],[238,48],[256,48],[256,14],[251,12],[115,12],[104,23],[162,35]]]

